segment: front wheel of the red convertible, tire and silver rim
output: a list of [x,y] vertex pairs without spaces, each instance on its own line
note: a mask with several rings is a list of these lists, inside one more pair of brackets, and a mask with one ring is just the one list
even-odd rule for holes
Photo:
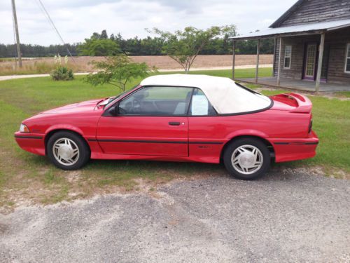
[[46,145],[48,157],[58,168],[76,170],[90,159],[86,142],[75,133],[61,131],[50,137]]

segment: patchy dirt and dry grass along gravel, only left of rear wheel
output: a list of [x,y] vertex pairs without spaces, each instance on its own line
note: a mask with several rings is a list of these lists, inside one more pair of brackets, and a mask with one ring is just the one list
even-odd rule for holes
[[[225,174],[220,166],[215,166],[215,168],[214,170],[214,166],[203,165],[200,169],[196,164],[188,166],[183,164],[180,168],[158,168],[158,165],[155,165],[148,170],[148,173],[153,174],[150,177],[148,175],[138,177],[136,173],[134,177],[125,180],[111,180],[101,184],[106,177],[95,170],[63,171],[48,165],[28,173],[19,166],[16,169],[7,170],[7,173],[12,173],[13,176],[2,189],[3,202],[0,203],[0,213],[11,213],[19,206],[70,202],[104,194],[144,193],[160,198],[158,189],[166,184]],[[107,180],[113,177],[123,177],[123,172],[120,173],[120,175],[118,173],[109,175],[111,177],[107,177]]]

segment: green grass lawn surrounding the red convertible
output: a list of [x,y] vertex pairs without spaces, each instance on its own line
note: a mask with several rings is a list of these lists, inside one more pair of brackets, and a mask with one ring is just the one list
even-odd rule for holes
[[[192,72],[230,76],[230,70]],[[237,77],[253,77],[254,69],[237,69]],[[270,76],[271,69],[260,70]],[[174,177],[225,174],[223,166],[206,163],[160,163],[147,161],[91,161],[78,171],[62,171],[43,156],[29,154],[18,147],[13,133],[20,123],[33,114],[64,104],[116,95],[113,86],[92,87],[78,76],[74,81],[56,82],[50,78],[0,81],[0,206],[29,200],[55,203],[99,192],[118,189],[148,190]],[[140,80],[129,83],[128,87]],[[266,90],[267,95],[283,90]],[[350,173],[350,101],[309,96],[314,104],[314,130],[320,137],[314,159],[281,166],[321,166],[329,174],[342,170]],[[140,183],[140,178],[142,183]],[[146,187],[147,188],[147,187]]]

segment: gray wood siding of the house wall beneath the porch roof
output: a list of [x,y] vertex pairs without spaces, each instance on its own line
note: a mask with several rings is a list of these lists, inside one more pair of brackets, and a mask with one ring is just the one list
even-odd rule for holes
[[[304,69],[304,48],[306,43],[317,42],[320,35],[294,36],[283,38],[281,53],[281,77],[290,79],[302,79]],[[346,45],[350,43],[350,29],[337,30],[325,34],[325,45],[330,46],[330,58],[328,61],[328,82],[349,83],[350,74],[344,72]],[[290,69],[283,69],[284,48],[292,46],[292,58]],[[276,41],[276,55],[274,60],[274,76],[277,76],[279,62],[279,39]]]

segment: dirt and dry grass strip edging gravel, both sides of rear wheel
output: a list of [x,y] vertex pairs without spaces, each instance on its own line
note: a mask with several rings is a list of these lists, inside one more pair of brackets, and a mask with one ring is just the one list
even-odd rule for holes
[[[47,176],[48,171],[41,171],[43,176]],[[342,170],[336,170],[328,173],[327,170],[321,166],[314,167],[300,167],[300,168],[286,168],[274,167],[273,173],[281,174],[307,174],[314,176],[335,177],[341,179],[350,179],[349,173]],[[134,177],[122,184],[106,184],[100,186],[98,184],[99,177],[87,177],[81,171],[65,172],[58,171],[55,177],[50,177],[49,182],[40,178],[28,178],[28,176],[20,173],[15,178],[22,182],[20,187],[16,189],[3,189],[2,198],[6,198],[10,203],[2,203],[0,206],[0,213],[7,214],[20,206],[42,204],[48,205],[52,203],[60,203],[62,201],[71,202],[85,198],[92,198],[94,196],[102,196],[104,194],[138,194],[143,193],[153,198],[160,199],[162,194],[160,189],[164,186],[170,187],[172,184],[184,182],[204,180],[213,177],[230,177],[223,168],[217,166],[217,171],[212,169],[202,169],[194,173],[179,173],[174,169],[163,170],[162,175],[153,180],[142,177]],[[1,226],[0,226],[1,228]],[[1,233],[1,229],[0,229]]]

